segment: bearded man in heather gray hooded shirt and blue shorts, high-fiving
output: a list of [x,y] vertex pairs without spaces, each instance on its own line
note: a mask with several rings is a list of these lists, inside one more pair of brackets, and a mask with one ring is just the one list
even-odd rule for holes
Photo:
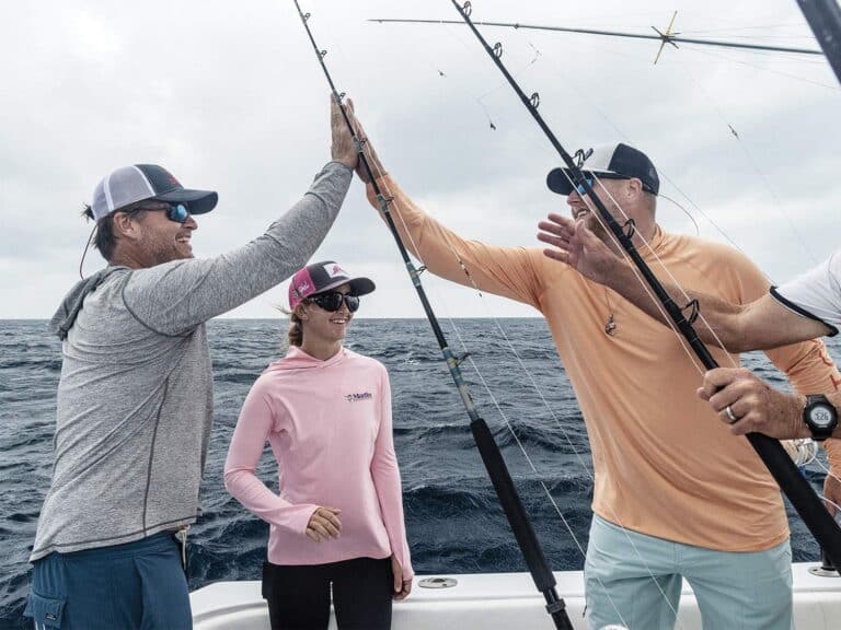
[[194,214],[217,194],[160,166],[114,171],[88,214],[108,266],[51,326],[62,340],[53,479],[31,556],[36,627],[189,628],[173,532],[195,522],[212,424],[205,322],[303,267],[332,225],[357,150],[332,104],[333,161],[239,249],[195,259]]

